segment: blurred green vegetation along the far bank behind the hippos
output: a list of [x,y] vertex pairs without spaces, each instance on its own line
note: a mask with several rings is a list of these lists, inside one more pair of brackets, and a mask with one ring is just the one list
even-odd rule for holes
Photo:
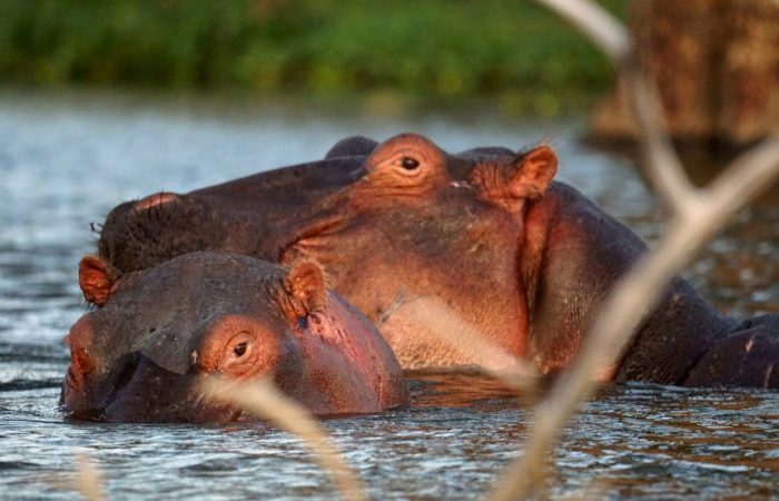
[[522,0],[0,0],[0,12],[6,84],[532,96],[553,111],[611,79],[581,36]]

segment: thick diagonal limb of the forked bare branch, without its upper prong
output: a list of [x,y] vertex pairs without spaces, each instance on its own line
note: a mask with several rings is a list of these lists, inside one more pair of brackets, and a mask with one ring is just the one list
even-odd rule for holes
[[[560,430],[589,397],[600,367],[610,365],[652,308],[668,282],[733,214],[779,179],[779,139],[766,140],[737,159],[712,186],[704,209],[679,214],[657,248],[647,254],[609,295],[584,342],[576,363],[554,385],[536,413],[524,455],[509,469],[493,500],[525,497],[540,480],[544,458]],[[732,180],[732,183],[728,183]]]

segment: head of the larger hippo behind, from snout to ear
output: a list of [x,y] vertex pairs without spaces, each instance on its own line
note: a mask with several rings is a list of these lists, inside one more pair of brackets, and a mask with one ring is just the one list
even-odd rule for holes
[[517,256],[524,215],[550,185],[555,154],[540,146],[448,155],[413,134],[369,146],[356,148],[366,155],[341,148],[352,156],[164,196],[161,205],[119,207],[100,254],[122,271],[194,247],[282,264],[310,258],[377,324],[404,367],[473,363],[412,318],[431,298],[466,320],[462,328],[524,354],[523,278],[535,265]]

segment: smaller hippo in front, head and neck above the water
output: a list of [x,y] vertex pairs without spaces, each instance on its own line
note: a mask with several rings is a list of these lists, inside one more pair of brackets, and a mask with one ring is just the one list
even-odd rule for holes
[[316,415],[377,413],[407,403],[392,350],[322,268],[193,253],[121,273],[98,256],[79,265],[98,308],[73,324],[61,404],[75,419],[226,422],[241,410],[203,397],[200,383],[270,377]]

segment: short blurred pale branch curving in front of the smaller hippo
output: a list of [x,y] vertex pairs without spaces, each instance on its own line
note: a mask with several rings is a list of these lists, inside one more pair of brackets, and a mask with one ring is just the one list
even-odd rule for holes
[[204,382],[201,392],[209,399],[230,402],[297,435],[315,453],[319,466],[329,472],[343,499],[351,501],[367,499],[363,483],[328,441],[327,434],[317,424],[316,419],[303,406],[282,394],[269,380],[238,385],[209,379]]

